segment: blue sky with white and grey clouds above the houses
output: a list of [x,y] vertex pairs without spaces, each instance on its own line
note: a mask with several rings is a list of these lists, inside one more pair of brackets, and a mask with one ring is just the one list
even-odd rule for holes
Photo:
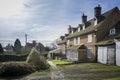
[[118,6],[120,0],[0,0],[0,40],[53,41],[67,33],[68,25],[81,23],[84,12],[94,17],[94,7],[102,12]]

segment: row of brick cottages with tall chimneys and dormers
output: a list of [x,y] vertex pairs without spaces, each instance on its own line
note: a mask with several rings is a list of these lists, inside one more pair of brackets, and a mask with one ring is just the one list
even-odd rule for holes
[[[69,26],[68,35],[61,38],[58,45],[66,53],[68,60],[79,62],[98,60],[101,63],[109,63],[108,55],[119,52],[115,50],[115,46],[119,44],[120,11],[117,7],[105,13],[101,13],[101,10],[100,5],[95,7],[94,18],[90,20],[87,20],[87,16],[83,14],[82,23],[77,27]],[[113,35],[113,33],[115,34]],[[107,52],[104,54],[106,48]],[[113,50],[111,52],[108,50],[109,48],[114,48],[114,50],[111,49],[111,51]],[[104,62],[104,57],[106,57],[106,62]],[[114,64],[116,64],[115,59]]]

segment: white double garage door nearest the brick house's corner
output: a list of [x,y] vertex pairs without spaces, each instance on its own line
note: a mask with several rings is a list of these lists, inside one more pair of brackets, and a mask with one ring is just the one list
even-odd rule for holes
[[107,47],[98,47],[98,62],[107,64]]

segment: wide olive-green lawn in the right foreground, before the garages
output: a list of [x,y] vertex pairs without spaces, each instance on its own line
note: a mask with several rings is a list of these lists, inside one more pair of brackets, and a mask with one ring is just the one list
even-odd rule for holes
[[59,68],[70,80],[120,80],[120,66],[100,63],[63,65]]

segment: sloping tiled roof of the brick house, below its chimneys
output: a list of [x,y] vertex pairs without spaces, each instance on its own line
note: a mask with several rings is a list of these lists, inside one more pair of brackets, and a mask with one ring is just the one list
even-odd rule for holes
[[[115,9],[118,9],[117,7],[107,11],[106,13],[102,14],[103,17],[107,18]],[[74,32],[73,34],[70,34],[67,38],[70,39],[70,38],[74,38],[74,37],[78,37],[78,36],[81,36],[81,35],[85,35],[85,34],[88,34],[88,33],[92,33],[92,32],[95,32],[97,30],[97,28],[104,22],[101,21],[100,23],[98,23],[96,26],[94,26],[93,22],[94,22],[94,18],[89,20],[88,22],[91,23],[91,25],[89,25],[85,30],[81,30],[80,32],[76,31]]]

